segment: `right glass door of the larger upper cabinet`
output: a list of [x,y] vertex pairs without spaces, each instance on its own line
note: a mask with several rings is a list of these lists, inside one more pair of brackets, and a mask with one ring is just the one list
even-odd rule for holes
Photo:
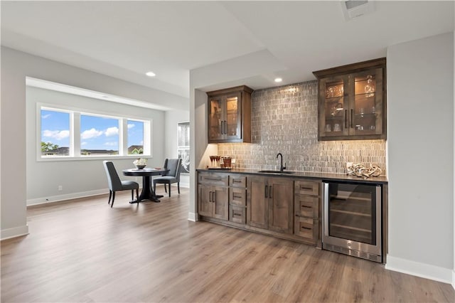
[[350,75],[350,135],[382,134],[382,68]]

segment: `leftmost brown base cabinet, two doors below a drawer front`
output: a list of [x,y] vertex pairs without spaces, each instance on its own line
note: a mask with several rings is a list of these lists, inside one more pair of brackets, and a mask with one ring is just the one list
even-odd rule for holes
[[228,175],[198,175],[198,213],[228,220]]

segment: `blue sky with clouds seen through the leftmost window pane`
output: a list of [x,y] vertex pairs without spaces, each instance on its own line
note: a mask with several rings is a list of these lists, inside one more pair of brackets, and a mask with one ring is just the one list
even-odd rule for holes
[[41,110],[41,141],[70,147],[70,114]]

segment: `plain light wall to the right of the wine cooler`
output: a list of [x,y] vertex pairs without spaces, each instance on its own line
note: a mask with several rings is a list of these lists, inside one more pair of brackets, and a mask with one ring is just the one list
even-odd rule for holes
[[387,268],[451,282],[454,35],[387,49]]

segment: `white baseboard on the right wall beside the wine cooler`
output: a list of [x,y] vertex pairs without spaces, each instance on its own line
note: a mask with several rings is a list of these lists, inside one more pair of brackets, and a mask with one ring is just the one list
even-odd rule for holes
[[453,270],[387,255],[385,269],[454,285]]

